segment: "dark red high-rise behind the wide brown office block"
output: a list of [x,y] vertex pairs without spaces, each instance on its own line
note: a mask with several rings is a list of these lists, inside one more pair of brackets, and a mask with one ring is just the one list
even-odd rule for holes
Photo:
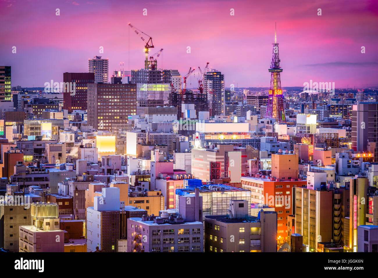
[[73,90],[75,82],[75,91],[71,93],[68,88],[63,92],[63,109],[71,113],[73,110],[87,109],[87,91],[88,83],[95,82],[94,73],[63,73],[63,82],[71,82],[69,85]]

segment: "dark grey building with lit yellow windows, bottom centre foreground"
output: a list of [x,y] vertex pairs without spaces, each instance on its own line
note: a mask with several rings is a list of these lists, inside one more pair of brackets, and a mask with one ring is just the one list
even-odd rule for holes
[[205,252],[277,252],[277,213],[248,215],[248,201],[229,202],[228,215],[205,217]]

